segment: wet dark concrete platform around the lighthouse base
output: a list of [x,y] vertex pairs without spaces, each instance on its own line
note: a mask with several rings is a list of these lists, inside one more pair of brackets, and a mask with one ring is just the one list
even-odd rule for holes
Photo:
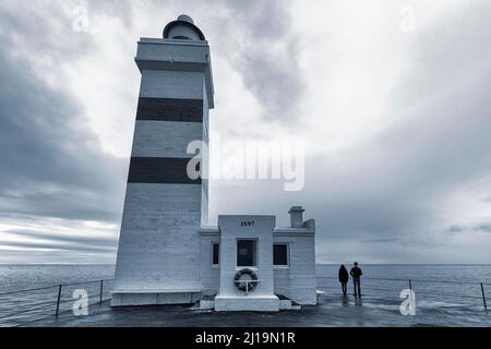
[[89,315],[63,314],[32,323],[51,327],[406,327],[491,326],[491,313],[480,308],[421,305],[416,316],[403,316],[398,300],[321,296],[320,305],[275,313],[212,312],[190,306],[155,305],[111,309],[92,305]]

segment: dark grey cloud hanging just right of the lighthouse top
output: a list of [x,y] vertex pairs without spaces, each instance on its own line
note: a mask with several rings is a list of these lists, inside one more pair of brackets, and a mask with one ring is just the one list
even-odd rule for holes
[[[265,119],[295,121],[303,94],[298,38],[291,31],[290,1],[212,1],[225,5],[208,28],[213,46],[230,60],[243,84],[264,108]],[[224,33],[228,33],[224,35]],[[213,49],[213,48],[212,48]]]

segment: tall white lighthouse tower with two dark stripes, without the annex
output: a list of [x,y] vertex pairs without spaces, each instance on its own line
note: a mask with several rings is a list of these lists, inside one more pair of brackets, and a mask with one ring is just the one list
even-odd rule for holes
[[208,142],[209,47],[181,15],[164,38],[142,38],[142,74],[112,305],[191,303],[201,296],[200,229],[207,182],[192,180],[190,142]]

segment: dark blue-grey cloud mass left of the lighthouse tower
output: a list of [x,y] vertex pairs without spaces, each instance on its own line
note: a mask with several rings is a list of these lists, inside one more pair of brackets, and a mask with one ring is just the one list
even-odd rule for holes
[[[73,234],[75,221],[119,224],[128,161],[101,152],[83,100],[67,83],[63,68],[96,49],[88,36],[69,31],[71,9],[0,5],[1,262],[31,262],[33,251],[38,262],[61,255],[85,261],[94,253],[94,262],[108,261],[108,254],[113,260],[116,231],[105,238],[92,229],[103,236],[86,240]],[[56,219],[46,228],[58,234],[10,229],[39,227],[46,219]]]

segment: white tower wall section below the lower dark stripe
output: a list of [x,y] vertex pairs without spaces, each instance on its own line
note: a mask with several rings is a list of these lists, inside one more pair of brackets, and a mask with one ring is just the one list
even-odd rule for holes
[[113,291],[201,290],[201,186],[128,184]]

